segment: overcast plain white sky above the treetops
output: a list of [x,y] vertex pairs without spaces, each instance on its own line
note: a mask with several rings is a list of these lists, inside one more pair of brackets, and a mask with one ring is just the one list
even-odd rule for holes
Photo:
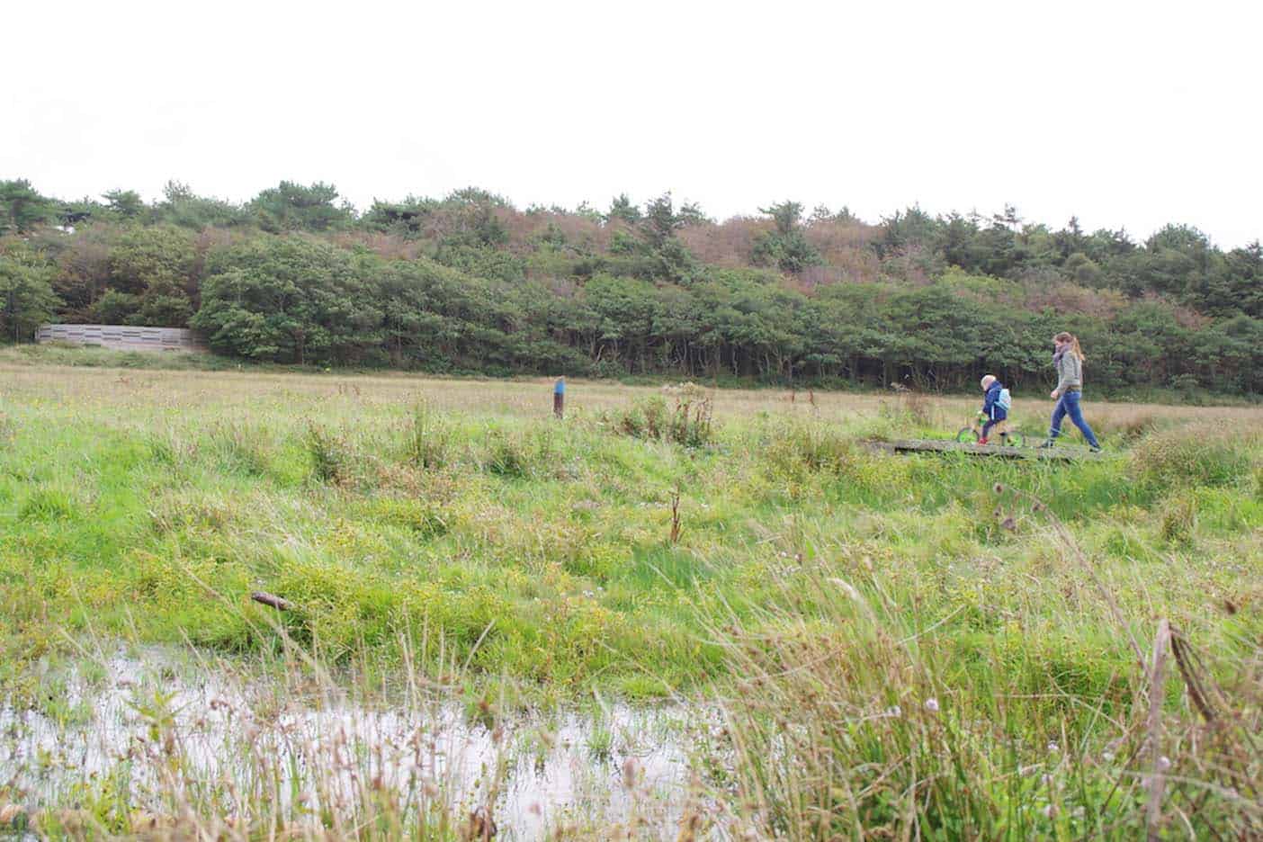
[[1255,1],[6,4],[0,178],[1010,202],[1233,247],[1263,237],[1260,30]]

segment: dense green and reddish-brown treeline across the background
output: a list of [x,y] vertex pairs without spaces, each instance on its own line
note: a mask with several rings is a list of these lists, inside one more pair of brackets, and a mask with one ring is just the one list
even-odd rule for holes
[[191,326],[235,357],[448,372],[1014,386],[1077,333],[1094,385],[1263,391],[1263,250],[918,208],[783,202],[717,223],[466,189],[359,213],[328,184],[245,205],[169,183],[66,202],[0,182],[0,333]]

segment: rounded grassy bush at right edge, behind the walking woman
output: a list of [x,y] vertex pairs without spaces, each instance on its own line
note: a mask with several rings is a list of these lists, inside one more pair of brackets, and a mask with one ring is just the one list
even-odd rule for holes
[[1151,433],[1132,449],[1129,472],[1151,490],[1228,485],[1249,476],[1257,439],[1221,424]]

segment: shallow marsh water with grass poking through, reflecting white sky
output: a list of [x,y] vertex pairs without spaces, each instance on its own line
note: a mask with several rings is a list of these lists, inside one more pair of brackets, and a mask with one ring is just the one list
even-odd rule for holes
[[[162,809],[164,775],[178,765],[183,781],[213,781],[225,812],[236,809],[231,793],[245,812],[265,785],[263,798],[344,803],[371,780],[457,817],[490,809],[500,839],[633,814],[673,838],[691,776],[678,708],[482,713],[452,699],[369,706],[327,688],[277,692],[264,677],[119,651],[45,677],[34,706],[5,702],[0,786],[29,812],[77,807],[102,789]],[[279,780],[260,781],[260,769]]]

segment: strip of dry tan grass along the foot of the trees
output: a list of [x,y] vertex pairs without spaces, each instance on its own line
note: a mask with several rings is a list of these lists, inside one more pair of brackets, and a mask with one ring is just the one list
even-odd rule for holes
[[[289,396],[316,399],[322,414],[351,417],[357,408],[414,405],[423,396],[436,410],[460,410],[499,417],[547,417],[552,413],[551,377],[514,380],[442,379],[405,374],[317,375],[242,371],[163,371],[134,369],[87,369],[21,365],[0,359],[4,400],[53,401],[69,408],[128,409],[155,403],[171,410],[217,406],[226,413],[263,401],[285,403]],[[566,408],[571,413],[600,413],[626,406],[637,399],[662,394],[659,386],[626,386],[618,382],[567,380]],[[743,419],[758,413],[812,415],[826,422],[853,422],[882,414],[894,398],[880,393],[813,391],[815,401],[787,400],[775,389],[719,389],[712,391],[716,422]],[[980,399],[918,396],[918,414],[935,422],[954,423],[978,409]],[[1017,396],[1015,413],[1043,418],[1051,400]],[[1253,406],[1168,406],[1161,404],[1085,404],[1087,420],[1106,434],[1135,434],[1149,427],[1188,422],[1210,425],[1257,428],[1263,409]]]

